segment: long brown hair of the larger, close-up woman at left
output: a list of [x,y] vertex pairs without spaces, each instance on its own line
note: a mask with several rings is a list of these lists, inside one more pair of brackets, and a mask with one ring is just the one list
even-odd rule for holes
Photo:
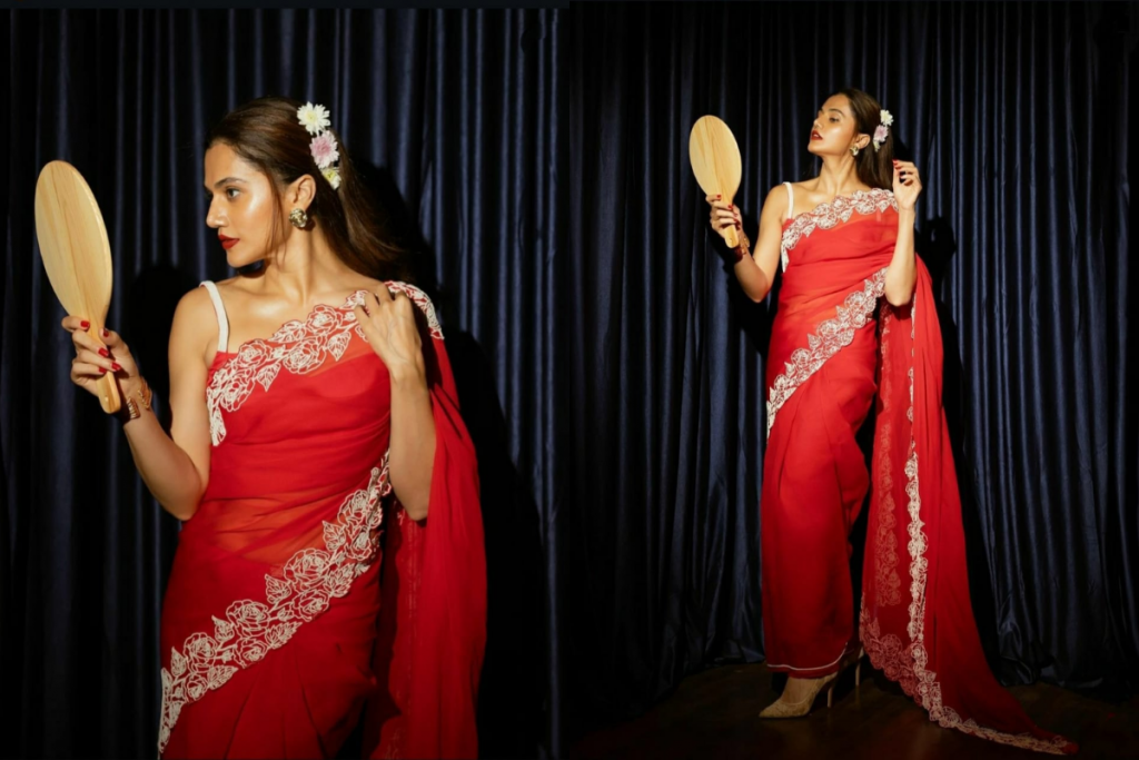
[[[229,146],[237,155],[269,177],[273,201],[280,207],[281,190],[303,174],[316,180],[317,195],[308,213],[320,224],[336,255],[352,270],[380,280],[411,281],[407,253],[387,234],[371,193],[357,174],[344,141],[334,129],[339,153],[341,187],[323,178],[309,149],[312,136],[297,121],[304,104],[282,97],[264,97],[226,114],[206,137],[206,149]],[[269,240],[276,250],[284,239],[284,214],[273,214]]]

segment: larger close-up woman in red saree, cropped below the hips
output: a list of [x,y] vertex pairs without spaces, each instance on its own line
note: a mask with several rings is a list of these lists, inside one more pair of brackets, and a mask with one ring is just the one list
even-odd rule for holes
[[477,471],[432,304],[388,281],[400,252],[322,107],[251,101],[206,148],[206,223],[246,273],[178,305],[169,436],[122,337],[64,320],[73,382],[114,374],[139,473],[185,521],[159,753],[327,758],[364,712],[370,757],[474,757]]

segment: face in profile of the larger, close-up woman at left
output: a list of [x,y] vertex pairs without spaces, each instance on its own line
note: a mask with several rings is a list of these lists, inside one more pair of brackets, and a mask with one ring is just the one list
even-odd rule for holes
[[235,269],[269,255],[273,215],[281,213],[269,182],[269,177],[228,145],[218,144],[206,150],[206,226],[218,230],[221,240],[236,239],[223,246],[226,260]]

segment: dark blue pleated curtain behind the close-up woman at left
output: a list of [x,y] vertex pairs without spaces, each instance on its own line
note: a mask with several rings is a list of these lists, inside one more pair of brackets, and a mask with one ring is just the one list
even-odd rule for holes
[[475,440],[486,528],[487,757],[549,744],[548,573],[539,514],[554,469],[551,260],[566,234],[560,11],[33,11],[0,18],[0,683],[3,754],[153,757],[157,622],[178,524],[118,425],[68,381],[34,236],[50,160],[99,201],[108,325],[155,386],[179,296],[223,279],[205,226],[203,141],[262,95],[326,105],[441,308]]

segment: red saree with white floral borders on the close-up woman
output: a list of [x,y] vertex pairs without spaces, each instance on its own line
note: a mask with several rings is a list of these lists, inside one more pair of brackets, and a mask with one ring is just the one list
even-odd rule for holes
[[429,515],[408,518],[388,482],[387,370],[352,312],[364,291],[233,353],[220,338],[210,484],[163,605],[162,757],[328,758],[361,714],[366,755],[477,755],[475,452],[431,301],[388,287],[426,314]]

